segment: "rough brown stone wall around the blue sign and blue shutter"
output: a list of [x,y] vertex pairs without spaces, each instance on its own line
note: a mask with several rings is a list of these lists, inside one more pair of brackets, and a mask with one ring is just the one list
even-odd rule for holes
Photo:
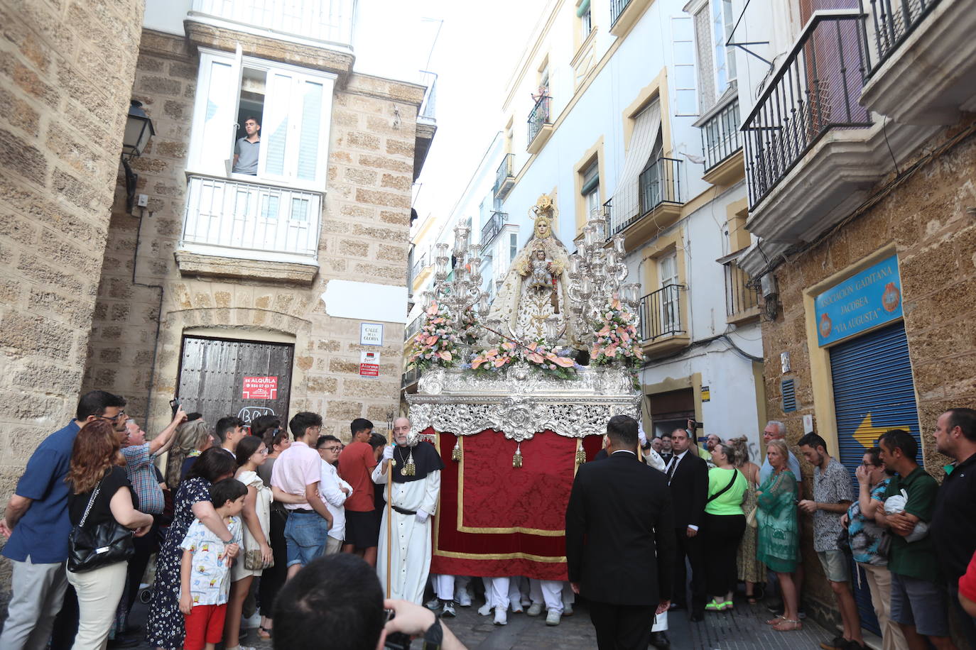
[[[933,137],[923,151],[937,149],[973,124],[970,119]],[[908,169],[911,162],[903,163],[902,169]],[[944,155],[923,164],[874,208],[777,269],[781,312],[774,322],[762,324],[765,388],[768,416],[787,424],[791,444],[803,433],[803,416],[814,414],[803,290],[894,243],[924,466],[931,475],[942,478],[942,466],[949,459],[935,451],[931,432],[936,418],[951,406],[976,405],[972,373],[976,364],[974,177],[976,137],[970,135]],[[795,379],[797,409],[791,413],[783,412],[782,352],[790,353],[789,376]],[[801,465],[809,493],[812,470],[802,460]],[[812,553],[812,530],[809,517],[804,518],[807,611],[821,621],[831,620],[834,595]]]

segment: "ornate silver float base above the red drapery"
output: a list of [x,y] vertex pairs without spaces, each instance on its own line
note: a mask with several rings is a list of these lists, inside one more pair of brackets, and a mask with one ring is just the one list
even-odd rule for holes
[[614,415],[640,418],[640,393],[620,367],[585,367],[575,380],[549,377],[524,362],[480,376],[432,368],[406,399],[411,444],[428,427],[456,436],[494,429],[521,442],[547,430],[567,438],[603,435]]

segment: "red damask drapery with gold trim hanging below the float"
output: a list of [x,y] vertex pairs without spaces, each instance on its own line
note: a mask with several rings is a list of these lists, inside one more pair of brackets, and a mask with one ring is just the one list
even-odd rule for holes
[[[576,476],[578,440],[551,431],[521,443],[522,467],[511,466],[517,443],[486,430],[458,438],[424,432],[444,459],[434,521],[431,573],[566,579],[565,514]],[[601,436],[583,440],[588,460]]]

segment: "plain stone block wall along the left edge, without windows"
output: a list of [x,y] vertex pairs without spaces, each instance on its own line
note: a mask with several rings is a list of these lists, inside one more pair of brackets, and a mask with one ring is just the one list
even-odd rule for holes
[[0,0],[0,503],[74,417],[143,9]]

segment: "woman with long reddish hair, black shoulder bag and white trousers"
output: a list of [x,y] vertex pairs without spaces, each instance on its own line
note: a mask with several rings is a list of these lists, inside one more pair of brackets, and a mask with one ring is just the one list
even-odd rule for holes
[[67,481],[67,581],[78,594],[78,633],[74,648],[106,646],[108,631],[125,588],[132,538],[152,527],[152,516],[139,512],[139,497],[126,476],[121,443],[106,420],[89,422],[74,439]]

